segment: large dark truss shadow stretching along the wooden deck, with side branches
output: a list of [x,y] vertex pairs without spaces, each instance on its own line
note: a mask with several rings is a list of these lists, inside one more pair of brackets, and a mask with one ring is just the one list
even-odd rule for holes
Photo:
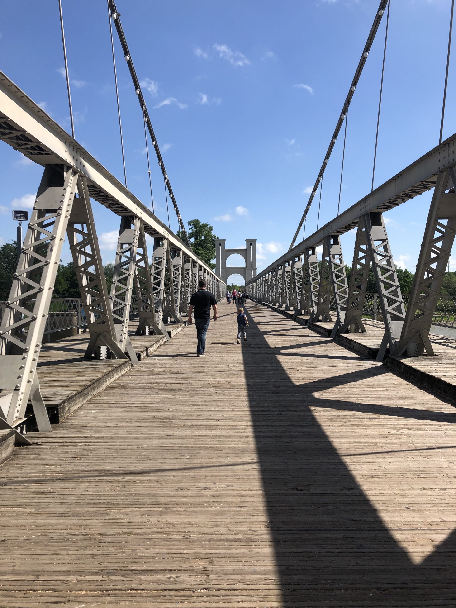
[[[250,305],[249,312],[254,321],[258,318],[263,322],[257,306]],[[277,316],[276,321],[282,319]],[[431,602],[429,606],[449,606],[440,604],[440,599],[456,597],[454,568],[438,568],[438,560],[429,561],[435,556],[427,560],[433,564],[432,570],[412,563],[309,407],[391,415],[384,406],[314,396],[347,382],[365,378],[381,381],[387,370],[370,365],[297,385],[278,361],[277,351],[269,346],[266,333],[270,333],[267,326],[260,329],[255,322],[250,323],[250,346],[243,349],[243,357],[283,606],[416,608],[428,605],[424,598]],[[399,408],[400,414],[394,410],[402,418],[452,418],[408,408]],[[301,603],[304,598],[308,604]],[[439,604],[432,604],[436,598]]]

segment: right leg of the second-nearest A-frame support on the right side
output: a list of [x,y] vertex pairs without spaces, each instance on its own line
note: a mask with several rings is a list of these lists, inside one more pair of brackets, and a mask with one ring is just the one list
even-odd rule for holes
[[364,228],[385,323],[377,355],[377,361],[383,361],[387,347],[392,353],[399,342],[406,310],[382,214],[366,213]]

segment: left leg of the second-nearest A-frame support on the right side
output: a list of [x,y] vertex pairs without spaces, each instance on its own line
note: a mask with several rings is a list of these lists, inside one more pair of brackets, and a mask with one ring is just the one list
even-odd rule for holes
[[348,330],[351,332],[366,331],[364,323],[362,322],[362,311],[366,299],[370,261],[364,219],[361,218],[358,223],[358,231],[356,232],[356,240],[354,243],[347,310],[345,311],[344,323],[342,323],[339,333],[345,333]]

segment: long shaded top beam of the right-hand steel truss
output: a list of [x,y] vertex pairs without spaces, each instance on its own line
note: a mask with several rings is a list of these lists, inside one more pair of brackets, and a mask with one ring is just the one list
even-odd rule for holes
[[[437,174],[446,167],[456,164],[456,134],[452,135],[437,147],[430,150],[420,159],[400,171],[393,178],[370,192],[349,209],[322,226],[308,238],[297,244],[275,260],[270,266],[257,274],[258,278],[271,271],[277,265],[291,260],[293,255],[303,255],[307,247],[316,247],[323,243],[328,235],[341,235],[358,226],[359,218],[365,213],[384,212],[409,201],[423,192],[434,188]],[[255,279],[253,279],[255,280]],[[250,282],[249,282],[250,283]]]

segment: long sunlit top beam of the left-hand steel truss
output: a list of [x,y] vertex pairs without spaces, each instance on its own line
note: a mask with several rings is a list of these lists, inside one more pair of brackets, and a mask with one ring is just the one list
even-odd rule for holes
[[145,232],[151,237],[167,238],[171,247],[198,261],[220,282],[195,252],[3,72],[0,72],[0,140],[39,165],[73,168],[85,176],[91,198],[117,215],[142,219]]

